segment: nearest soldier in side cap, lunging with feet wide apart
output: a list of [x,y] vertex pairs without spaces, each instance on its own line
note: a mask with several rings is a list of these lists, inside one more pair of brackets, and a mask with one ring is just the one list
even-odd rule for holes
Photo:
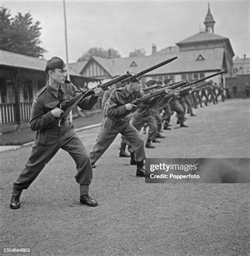
[[[89,185],[92,180],[91,162],[80,138],[75,134],[73,125],[66,119],[55,122],[63,110],[59,108],[65,99],[80,94],[77,88],[66,80],[65,64],[59,57],[47,61],[45,73],[49,78],[47,84],[35,97],[30,117],[30,127],[36,131],[35,143],[25,168],[13,185],[10,207],[20,208],[20,196],[40,174],[44,166],[62,148],[71,155],[78,173],[76,182],[80,184],[80,202],[89,206],[97,206],[97,201],[89,196]],[[91,109],[102,94],[102,89],[95,88],[95,94],[78,103],[82,109]]]

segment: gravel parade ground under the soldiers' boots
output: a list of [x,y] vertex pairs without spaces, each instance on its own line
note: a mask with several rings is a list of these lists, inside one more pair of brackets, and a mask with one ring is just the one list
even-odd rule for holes
[[[249,158],[249,111],[249,99],[219,101],[187,115],[188,128],[174,114],[166,138],[146,155]],[[78,132],[88,152],[100,129]],[[80,204],[75,164],[60,150],[11,210],[12,185],[31,146],[0,153],[0,255],[249,255],[248,183],[145,183],[119,157],[120,138],[93,169],[97,207]]]

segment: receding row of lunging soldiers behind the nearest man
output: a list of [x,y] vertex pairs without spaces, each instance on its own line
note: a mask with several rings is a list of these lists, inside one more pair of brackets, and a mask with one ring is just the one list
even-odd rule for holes
[[[171,129],[170,119],[174,112],[177,114],[177,124],[186,128],[188,127],[185,125],[186,113],[195,117],[193,109],[197,108],[198,104],[203,107],[203,97],[205,97],[206,106],[211,101],[214,104],[217,103],[219,95],[222,95],[224,101],[223,90],[219,90],[212,81],[202,84],[203,87],[200,89],[197,88],[181,95],[175,93],[170,98],[168,97],[168,84],[171,84],[170,80],[165,80],[164,84],[161,81],[150,80],[146,83],[146,88],[142,89],[140,80],[134,78],[125,85],[120,82],[113,84],[104,92],[101,104],[104,114],[102,128],[90,153],[93,168],[96,167],[95,162],[120,133],[122,137],[119,156],[130,157],[130,164],[137,165],[136,175],[145,176],[143,160],[146,156],[144,143],[139,136],[141,129],[146,133],[146,127],[148,127],[145,147],[155,148],[152,143],[160,143],[159,138],[165,138],[161,135],[162,129]],[[129,103],[159,88],[166,88],[165,96],[154,97],[138,106]],[[126,152],[127,146],[130,154]]]

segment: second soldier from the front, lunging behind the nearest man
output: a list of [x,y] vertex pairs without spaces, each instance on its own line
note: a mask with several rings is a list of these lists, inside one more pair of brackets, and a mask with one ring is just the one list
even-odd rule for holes
[[132,78],[132,81],[129,81],[125,87],[112,91],[105,105],[103,128],[97,139],[97,143],[90,153],[92,165],[97,162],[120,133],[129,141],[136,154],[136,176],[145,176],[143,168],[143,162],[146,158],[144,141],[140,137],[137,129],[130,124],[130,119],[127,118],[129,113],[137,107],[129,102],[140,97],[142,97],[140,82],[136,78]]

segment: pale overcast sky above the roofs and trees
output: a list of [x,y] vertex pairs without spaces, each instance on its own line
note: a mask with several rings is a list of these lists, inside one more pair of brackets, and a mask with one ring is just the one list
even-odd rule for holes
[[[249,58],[249,1],[210,0],[215,34],[228,37],[235,56]],[[12,16],[30,12],[39,21],[44,59],[66,61],[63,0],[3,1]],[[68,60],[76,62],[92,47],[117,50],[128,57],[134,49],[150,55],[205,29],[208,1],[72,1],[65,0]]]

